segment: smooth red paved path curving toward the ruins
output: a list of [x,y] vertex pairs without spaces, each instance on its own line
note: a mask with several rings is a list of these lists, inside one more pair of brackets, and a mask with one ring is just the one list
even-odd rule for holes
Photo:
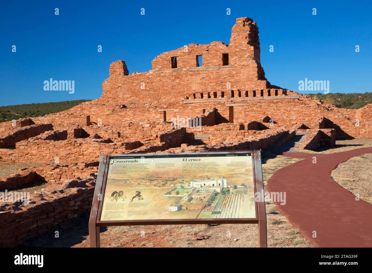
[[[331,176],[331,170],[341,162],[365,153],[372,153],[372,147],[332,154],[282,154],[304,159],[277,170],[267,189],[286,192],[285,205],[275,202],[278,210],[315,246],[372,247],[372,205],[356,201],[355,195]],[[317,232],[317,238],[312,238],[312,231]]]

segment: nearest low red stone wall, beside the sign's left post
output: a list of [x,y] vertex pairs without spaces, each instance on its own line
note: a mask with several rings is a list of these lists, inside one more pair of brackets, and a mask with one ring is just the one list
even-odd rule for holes
[[[81,182],[81,181],[80,181]],[[44,233],[59,222],[90,211],[94,182],[86,187],[52,189],[30,194],[30,203],[7,203],[0,207],[0,247],[13,247],[25,238]]]

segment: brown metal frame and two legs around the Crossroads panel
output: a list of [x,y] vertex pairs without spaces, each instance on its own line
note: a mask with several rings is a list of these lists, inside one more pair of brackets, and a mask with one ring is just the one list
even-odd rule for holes
[[[258,246],[267,247],[267,225],[266,225],[266,208],[264,198],[259,201],[255,198],[256,218],[211,218],[211,219],[161,219],[161,220],[99,220],[103,204],[102,197],[105,192],[109,160],[111,157],[121,156],[172,156],[172,155],[200,155],[200,154],[235,154],[251,153],[253,167],[253,185],[254,192],[263,192],[263,176],[261,165],[260,150],[245,151],[221,151],[221,152],[193,152],[193,153],[128,153],[128,154],[110,154],[101,155],[96,186],[94,189],[92,208],[89,218],[89,245],[90,247],[100,247],[100,227],[121,226],[121,225],[183,225],[183,224],[258,224]],[[100,200],[102,199],[102,200]]]

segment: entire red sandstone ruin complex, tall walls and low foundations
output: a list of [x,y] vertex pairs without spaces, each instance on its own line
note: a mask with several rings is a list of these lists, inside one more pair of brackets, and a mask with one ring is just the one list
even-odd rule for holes
[[0,203],[0,247],[89,211],[101,154],[265,149],[303,131],[296,149],[371,138],[372,104],[342,109],[270,84],[258,34],[256,22],[238,18],[229,45],[192,43],[131,75],[125,61],[113,62],[99,99],[0,123],[0,162],[55,162],[0,179],[0,195],[44,186],[27,205]]

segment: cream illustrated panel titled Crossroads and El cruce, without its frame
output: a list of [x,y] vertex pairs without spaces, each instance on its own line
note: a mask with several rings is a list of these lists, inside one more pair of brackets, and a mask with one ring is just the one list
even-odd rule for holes
[[256,218],[251,153],[110,157],[101,221]]

